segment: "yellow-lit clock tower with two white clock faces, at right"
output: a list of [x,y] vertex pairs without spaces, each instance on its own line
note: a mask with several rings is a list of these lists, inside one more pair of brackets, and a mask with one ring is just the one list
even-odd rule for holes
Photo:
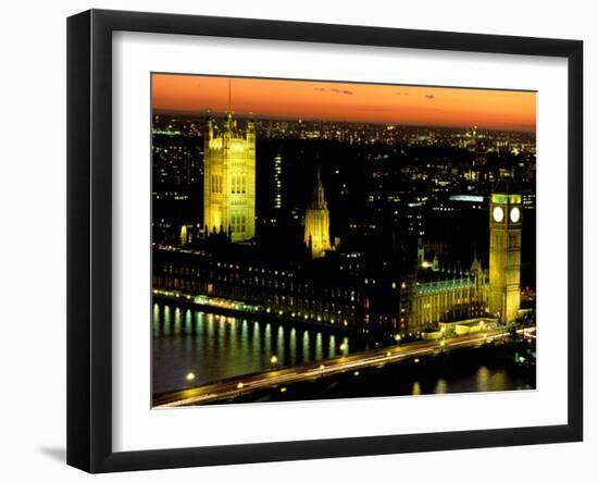
[[489,314],[512,323],[520,307],[521,194],[509,180],[500,180],[490,197]]

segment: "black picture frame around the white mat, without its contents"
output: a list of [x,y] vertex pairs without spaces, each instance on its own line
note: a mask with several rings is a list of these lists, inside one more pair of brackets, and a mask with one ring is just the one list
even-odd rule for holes
[[[112,448],[112,33],[117,30],[564,58],[568,422],[142,452]],[[498,447],[583,438],[583,42],[90,10],[67,20],[67,464],[89,472]],[[564,135],[564,133],[563,133]]]

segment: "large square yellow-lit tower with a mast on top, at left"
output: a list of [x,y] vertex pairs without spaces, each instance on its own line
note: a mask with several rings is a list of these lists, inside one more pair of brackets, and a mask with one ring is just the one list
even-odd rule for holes
[[209,120],[204,135],[203,225],[233,243],[256,236],[256,124],[237,127],[228,113],[222,129]]

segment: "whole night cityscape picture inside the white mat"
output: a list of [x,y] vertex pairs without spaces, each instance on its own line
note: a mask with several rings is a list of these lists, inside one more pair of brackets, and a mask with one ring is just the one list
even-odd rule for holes
[[[518,96],[173,78],[152,101],[153,407],[535,388],[535,131],[479,122],[524,120]],[[379,122],[389,96],[425,127]]]

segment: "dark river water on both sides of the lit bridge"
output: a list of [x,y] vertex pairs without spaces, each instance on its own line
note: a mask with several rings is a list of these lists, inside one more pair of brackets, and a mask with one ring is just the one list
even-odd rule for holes
[[[154,394],[373,348],[372,343],[348,332],[232,318],[171,302],[153,305],[152,324]],[[232,401],[533,390],[533,354],[534,347],[527,344],[463,349],[423,357],[416,363],[388,363],[282,390],[264,390]]]

